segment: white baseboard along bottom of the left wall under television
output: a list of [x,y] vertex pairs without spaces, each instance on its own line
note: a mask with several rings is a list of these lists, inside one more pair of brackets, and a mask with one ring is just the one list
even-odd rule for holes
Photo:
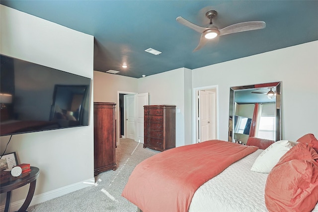
[[[84,180],[82,182],[68,185],[68,186],[53,190],[53,191],[45,192],[43,194],[34,195],[29,207],[37,205],[39,203],[46,202],[48,200],[52,200],[52,199],[57,198],[57,197],[61,197],[63,195],[69,194],[69,193],[77,191],[79,189],[86,188],[88,186],[93,186],[93,185],[95,185],[95,178]],[[24,200],[19,200],[19,201],[11,203],[9,212],[18,211],[23,203],[24,203]],[[4,211],[4,206],[0,207],[0,211],[1,212]]]

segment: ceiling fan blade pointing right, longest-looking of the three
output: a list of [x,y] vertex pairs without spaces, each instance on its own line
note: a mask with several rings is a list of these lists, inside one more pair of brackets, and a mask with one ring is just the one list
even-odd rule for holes
[[265,28],[266,23],[264,21],[248,21],[248,22],[242,22],[233,24],[230,26],[227,26],[223,29],[220,29],[220,36],[221,35],[227,35],[237,32],[244,32],[249,30],[255,30],[255,29],[263,29]]

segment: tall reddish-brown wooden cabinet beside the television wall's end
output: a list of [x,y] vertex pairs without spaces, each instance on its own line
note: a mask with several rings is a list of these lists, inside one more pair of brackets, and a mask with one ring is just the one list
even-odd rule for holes
[[115,103],[94,102],[94,175],[117,169]]

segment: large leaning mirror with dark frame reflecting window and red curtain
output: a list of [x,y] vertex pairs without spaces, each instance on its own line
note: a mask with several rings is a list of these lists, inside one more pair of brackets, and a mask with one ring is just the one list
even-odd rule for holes
[[229,141],[281,140],[281,82],[230,88]]

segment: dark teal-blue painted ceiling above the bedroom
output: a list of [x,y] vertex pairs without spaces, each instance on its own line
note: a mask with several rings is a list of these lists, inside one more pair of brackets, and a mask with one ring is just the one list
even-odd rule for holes
[[[93,35],[94,70],[140,78],[196,69],[318,40],[318,0],[1,0],[1,4]],[[176,17],[219,29],[261,20],[266,28],[221,36],[197,52],[200,33]],[[162,54],[145,52],[153,48]],[[121,66],[127,64],[128,68]],[[213,71],[213,70],[211,70]]]

